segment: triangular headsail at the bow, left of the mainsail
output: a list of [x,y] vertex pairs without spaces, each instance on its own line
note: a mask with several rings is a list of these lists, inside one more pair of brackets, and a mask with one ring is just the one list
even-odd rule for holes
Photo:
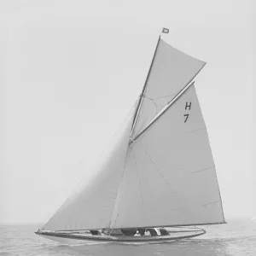
[[96,166],[90,183],[74,191],[44,225],[44,230],[88,230],[109,226],[124,170],[132,119],[133,112],[113,149],[104,154],[104,160]]

